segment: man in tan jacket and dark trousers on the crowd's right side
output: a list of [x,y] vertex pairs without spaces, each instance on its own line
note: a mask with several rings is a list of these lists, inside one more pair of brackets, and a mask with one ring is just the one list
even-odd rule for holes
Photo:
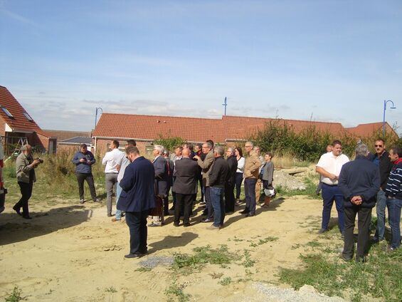
[[245,209],[240,212],[245,217],[255,216],[255,184],[258,179],[258,172],[261,167],[260,159],[257,152],[253,150],[253,142],[245,143],[245,151],[248,157],[245,159],[244,166],[244,192],[245,192]]

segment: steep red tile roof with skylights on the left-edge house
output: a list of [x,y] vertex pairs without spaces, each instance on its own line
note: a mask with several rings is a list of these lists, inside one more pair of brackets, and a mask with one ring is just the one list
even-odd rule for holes
[[[9,116],[1,110],[1,107],[9,110],[13,118],[9,118]],[[23,113],[27,112],[21,104],[18,103],[18,100],[14,98],[7,88],[0,86],[0,118],[16,132],[18,132],[18,130],[33,131],[40,135],[50,137],[48,133],[41,130],[41,127],[39,127],[34,120],[28,120]]]

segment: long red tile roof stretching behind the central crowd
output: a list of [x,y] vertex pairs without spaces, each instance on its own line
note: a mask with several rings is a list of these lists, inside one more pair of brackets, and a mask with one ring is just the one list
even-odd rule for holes
[[[255,131],[263,130],[266,123],[277,119],[223,116],[221,119],[184,118],[162,115],[129,115],[103,113],[92,134],[94,137],[134,138],[154,140],[176,136],[190,142],[203,142],[211,139],[215,142],[226,140],[246,140]],[[340,123],[310,122],[305,120],[279,120],[300,132],[313,126],[319,131],[328,131],[339,135],[345,129]]]

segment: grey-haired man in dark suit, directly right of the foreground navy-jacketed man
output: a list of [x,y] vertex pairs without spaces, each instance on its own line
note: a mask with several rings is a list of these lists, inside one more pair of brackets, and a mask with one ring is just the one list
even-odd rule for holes
[[[155,194],[161,197],[163,200],[167,195],[167,187],[169,182],[166,160],[162,156],[164,147],[161,145],[154,145],[154,150],[152,152],[154,154],[154,160],[152,163],[154,164],[155,169]],[[161,215],[154,216],[154,221],[149,224],[149,227],[160,227],[164,223],[163,203],[160,205],[157,204],[156,207],[161,208]]]

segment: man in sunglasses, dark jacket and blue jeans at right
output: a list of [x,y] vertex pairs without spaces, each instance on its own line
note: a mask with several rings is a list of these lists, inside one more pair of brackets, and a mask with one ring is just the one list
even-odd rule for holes
[[386,194],[385,187],[386,182],[389,177],[389,172],[392,169],[392,162],[389,159],[389,154],[385,150],[385,142],[383,139],[378,139],[374,143],[376,148],[376,154],[371,155],[369,159],[374,162],[374,164],[379,167],[380,171],[380,190],[377,193],[376,202],[376,214],[377,214],[377,227],[376,234],[374,235],[374,242],[379,242],[384,240],[385,233],[385,208],[386,208]]

